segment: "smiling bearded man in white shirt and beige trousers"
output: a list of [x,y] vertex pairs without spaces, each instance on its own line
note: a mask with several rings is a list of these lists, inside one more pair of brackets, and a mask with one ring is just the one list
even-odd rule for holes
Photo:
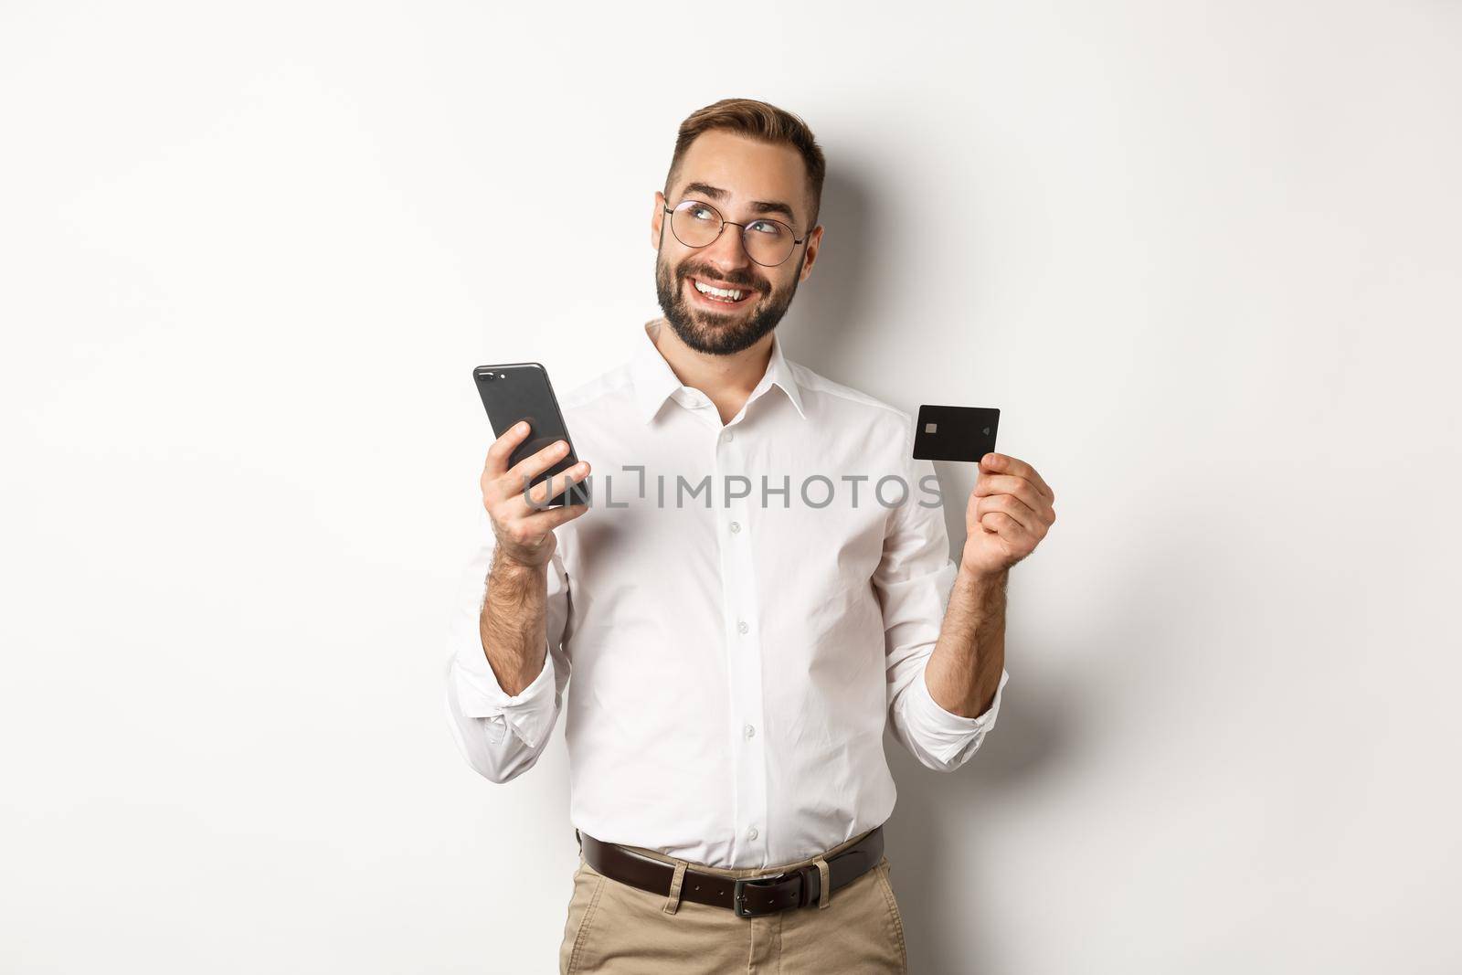
[[[566,972],[905,971],[885,724],[952,770],[996,721],[1007,573],[1054,494],[985,455],[956,566],[911,417],[782,355],[823,171],[779,108],[690,115],[651,219],[664,317],[561,401],[580,462],[525,494],[564,444],[487,452],[447,707],[506,782],[572,667]],[[542,507],[591,458],[594,503]]]

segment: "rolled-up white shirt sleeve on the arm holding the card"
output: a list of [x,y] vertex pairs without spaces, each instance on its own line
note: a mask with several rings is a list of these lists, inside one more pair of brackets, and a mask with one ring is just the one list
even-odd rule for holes
[[[906,446],[905,458],[912,444]],[[994,728],[1010,675],[1001,671],[994,702],[974,718],[946,710],[930,694],[924,671],[934,655],[958,566],[949,557],[943,509],[920,503],[933,501],[921,488],[933,484],[923,479],[934,475],[933,462],[909,459],[902,475],[909,482],[908,501],[889,512],[883,557],[873,576],[883,607],[890,729],[920,763],[953,772],[974,757]]]

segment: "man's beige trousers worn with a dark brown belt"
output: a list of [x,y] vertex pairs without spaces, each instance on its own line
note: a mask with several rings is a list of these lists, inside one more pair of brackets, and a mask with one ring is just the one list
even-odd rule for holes
[[[852,846],[867,833],[792,864],[727,870],[674,860],[654,849],[626,846],[680,868],[694,867],[722,877],[760,874],[813,865]],[[677,881],[683,876],[677,873]],[[841,972],[908,972],[904,919],[889,883],[889,858],[846,887],[833,890],[826,906],[788,908],[756,918],[738,918],[727,908],[649,893],[611,880],[579,855],[573,874],[569,918],[558,946],[558,972],[602,975],[721,975],[778,972],[838,975]]]

